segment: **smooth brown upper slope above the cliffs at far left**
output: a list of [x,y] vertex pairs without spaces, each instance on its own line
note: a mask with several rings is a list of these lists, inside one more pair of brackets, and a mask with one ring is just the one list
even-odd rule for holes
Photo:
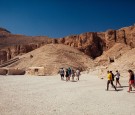
[[51,43],[51,38],[47,36],[25,36],[12,34],[10,31],[0,28],[0,49],[26,44],[43,44]]

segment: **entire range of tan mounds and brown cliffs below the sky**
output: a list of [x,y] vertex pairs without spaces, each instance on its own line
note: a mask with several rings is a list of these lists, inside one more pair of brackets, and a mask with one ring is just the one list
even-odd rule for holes
[[[46,71],[52,70],[50,74],[56,73],[62,66],[79,67],[83,70],[103,66],[115,70],[117,68],[114,65],[121,69],[130,65],[134,69],[132,57],[130,62],[125,61],[128,58],[126,55],[132,55],[134,48],[135,25],[119,30],[87,32],[58,39],[16,35],[0,28],[0,64],[11,60],[10,62],[15,63],[9,65],[7,62],[7,67],[27,69],[31,66],[44,66]],[[18,56],[19,61],[12,60]],[[126,69],[130,69],[130,66]]]

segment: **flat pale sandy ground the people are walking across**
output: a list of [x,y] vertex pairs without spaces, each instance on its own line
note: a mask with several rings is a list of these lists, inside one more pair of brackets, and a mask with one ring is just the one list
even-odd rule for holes
[[59,76],[0,76],[0,115],[135,115],[135,90],[105,91],[106,80],[83,74],[78,82]]

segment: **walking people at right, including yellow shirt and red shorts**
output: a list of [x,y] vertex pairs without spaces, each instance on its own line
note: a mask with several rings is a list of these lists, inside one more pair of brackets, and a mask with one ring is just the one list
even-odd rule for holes
[[[135,75],[132,70],[128,70],[129,73],[129,89],[128,92],[132,91],[132,86],[135,88]],[[113,84],[114,78],[116,78],[116,85]],[[112,87],[117,91],[117,84],[119,84],[120,87],[120,73],[118,70],[116,70],[116,74],[113,74],[112,71],[107,71],[107,91],[109,90],[109,84],[112,85]]]

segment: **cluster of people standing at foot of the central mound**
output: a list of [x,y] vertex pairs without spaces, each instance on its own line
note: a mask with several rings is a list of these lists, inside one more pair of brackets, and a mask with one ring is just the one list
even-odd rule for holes
[[70,67],[65,70],[63,68],[60,68],[59,74],[60,74],[61,80],[64,80],[64,77],[66,77],[66,81],[70,81],[70,77],[72,77],[72,81],[74,81],[75,76],[77,77],[77,80],[79,80],[80,70],[76,69],[75,71],[74,69],[71,69]]

